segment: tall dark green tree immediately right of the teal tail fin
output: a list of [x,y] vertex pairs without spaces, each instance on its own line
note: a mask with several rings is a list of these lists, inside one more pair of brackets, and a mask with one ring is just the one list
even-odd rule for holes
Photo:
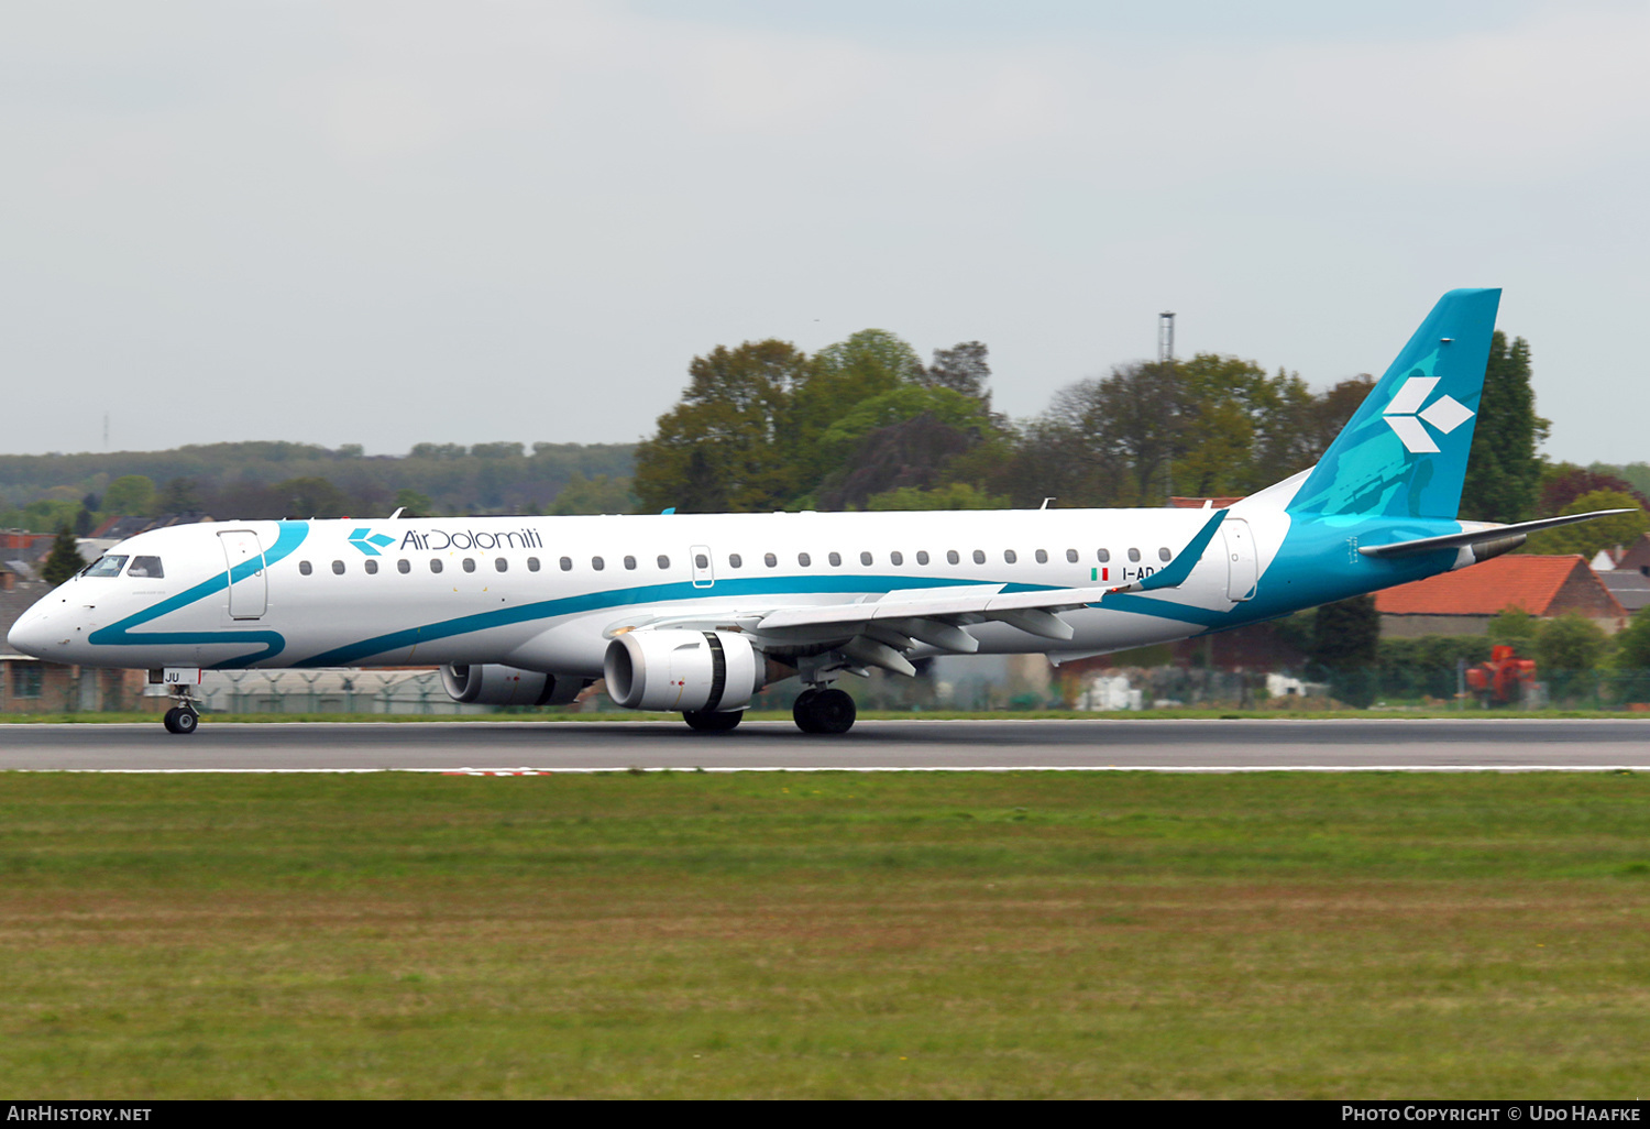
[[1548,421],[1536,414],[1530,386],[1530,343],[1508,347],[1500,330],[1490,338],[1483,396],[1473,421],[1460,517],[1472,522],[1523,522],[1534,513],[1541,485],[1536,444],[1548,437]]

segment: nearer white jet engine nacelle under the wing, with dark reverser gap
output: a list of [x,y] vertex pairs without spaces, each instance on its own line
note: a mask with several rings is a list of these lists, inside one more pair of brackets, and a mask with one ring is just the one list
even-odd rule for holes
[[607,644],[607,693],[630,710],[742,710],[762,688],[766,664],[729,631],[630,631]]

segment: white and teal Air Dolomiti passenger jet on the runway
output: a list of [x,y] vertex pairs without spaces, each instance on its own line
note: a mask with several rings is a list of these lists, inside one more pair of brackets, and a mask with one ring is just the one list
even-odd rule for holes
[[114,546],[12,627],[50,662],[135,667],[193,733],[201,670],[441,665],[464,703],[739,725],[800,678],[929,655],[1056,662],[1228,631],[1470,568],[1544,528],[1457,520],[1498,289],[1450,291],[1322,461],[1229,508],[216,522]]

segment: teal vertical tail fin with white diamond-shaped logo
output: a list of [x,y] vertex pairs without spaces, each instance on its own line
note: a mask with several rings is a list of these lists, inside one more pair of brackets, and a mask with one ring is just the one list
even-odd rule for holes
[[1498,289],[1440,297],[1289,510],[1454,518],[1500,302]]

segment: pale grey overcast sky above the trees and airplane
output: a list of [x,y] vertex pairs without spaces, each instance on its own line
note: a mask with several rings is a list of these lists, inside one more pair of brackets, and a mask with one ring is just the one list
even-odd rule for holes
[[1502,286],[1548,454],[1650,459],[1650,5],[0,8],[0,451],[632,441],[695,353],[1381,371]]

